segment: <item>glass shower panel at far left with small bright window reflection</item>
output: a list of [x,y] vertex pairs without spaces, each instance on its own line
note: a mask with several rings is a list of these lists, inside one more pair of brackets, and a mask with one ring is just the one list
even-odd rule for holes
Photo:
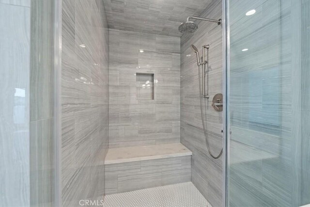
[[54,0],[0,1],[0,206],[52,206]]

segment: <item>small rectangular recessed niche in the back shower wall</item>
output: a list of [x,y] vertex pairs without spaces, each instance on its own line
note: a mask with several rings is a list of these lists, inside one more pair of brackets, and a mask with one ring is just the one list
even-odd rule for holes
[[154,73],[136,73],[137,99],[154,100]]

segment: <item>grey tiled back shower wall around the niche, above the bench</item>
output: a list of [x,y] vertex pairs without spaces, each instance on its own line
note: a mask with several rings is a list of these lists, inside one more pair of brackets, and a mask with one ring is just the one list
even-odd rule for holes
[[[180,38],[109,36],[109,147],[180,142]],[[137,98],[136,73],[154,74],[154,100]]]

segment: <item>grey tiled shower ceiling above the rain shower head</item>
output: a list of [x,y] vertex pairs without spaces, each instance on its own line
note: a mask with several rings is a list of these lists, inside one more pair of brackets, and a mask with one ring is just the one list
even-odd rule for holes
[[103,0],[109,28],[180,37],[187,16],[200,16],[212,0]]

